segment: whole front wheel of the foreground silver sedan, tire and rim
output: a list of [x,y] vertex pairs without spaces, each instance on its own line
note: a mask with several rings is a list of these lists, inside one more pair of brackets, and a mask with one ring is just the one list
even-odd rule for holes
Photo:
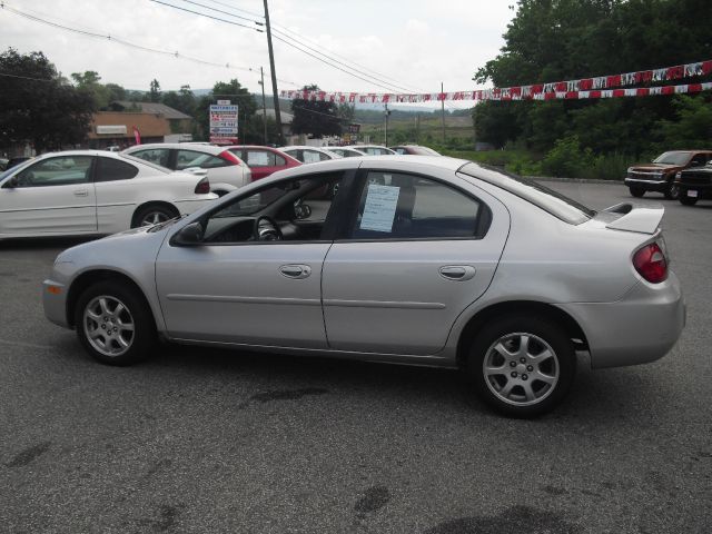
[[146,359],[156,342],[148,305],[120,281],[99,281],[85,289],[75,308],[75,325],[79,342],[102,364],[122,366]]

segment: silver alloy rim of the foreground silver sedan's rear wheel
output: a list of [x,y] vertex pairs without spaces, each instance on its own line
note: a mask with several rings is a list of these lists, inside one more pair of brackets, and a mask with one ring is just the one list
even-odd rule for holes
[[541,337],[506,334],[487,349],[482,370],[497,399],[514,406],[532,406],[548,397],[561,376],[558,357]]

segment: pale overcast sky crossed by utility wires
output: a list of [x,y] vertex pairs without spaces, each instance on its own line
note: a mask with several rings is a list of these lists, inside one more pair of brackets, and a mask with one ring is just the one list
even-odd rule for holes
[[[254,18],[250,13],[263,13],[261,0],[161,1],[250,27],[251,22],[219,11],[248,19]],[[317,83],[334,91],[396,92],[400,88],[435,92],[443,81],[446,91],[474,89],[474,71],[504,43],[502,34],[514,14],[511,3],[514,1],[270,0],[276,37],[301,36],[299,46],[310,47],[309,53],[323,51],[360,70],[357,75],[363,78],[380,79],[349,76],[275,39],[279,88]],[[165,90],[182,85],[209,88],[215,81],[237,78],[258,91],[259,67],[269,68],[264,33],[150,0],[7,0],[6,6],[53,23],[221,66],[140,51],[0,10],[0,49],[43,51],[65,76],[96,70],[103,82],[130,89],[148,89],[157,78]]]

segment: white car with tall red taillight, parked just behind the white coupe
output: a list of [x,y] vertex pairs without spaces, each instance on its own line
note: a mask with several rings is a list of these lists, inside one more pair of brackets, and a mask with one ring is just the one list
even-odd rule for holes
[[225,147],[200,142],[156,142],[137,145],[123,154],[145,159],[172,170],[208,171],[211,191],[218,196],[234,191],[253,181],[245,162]]

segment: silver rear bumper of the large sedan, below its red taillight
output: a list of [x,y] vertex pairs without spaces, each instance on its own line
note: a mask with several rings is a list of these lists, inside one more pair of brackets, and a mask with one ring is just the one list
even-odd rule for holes
[[560,305],[584,327],[593,368],[662,358],[685,325],[685,303],[674,273],[662,284],[641,280],[615,303]]

